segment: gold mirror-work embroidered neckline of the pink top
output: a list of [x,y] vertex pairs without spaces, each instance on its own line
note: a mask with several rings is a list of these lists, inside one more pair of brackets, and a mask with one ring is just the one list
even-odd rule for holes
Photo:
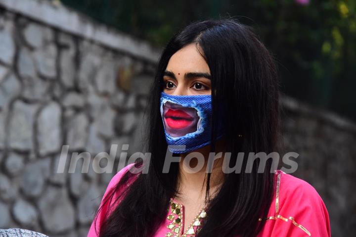
[[168,212],[169,215],[167,219],[170,220],[170,223],[167,228],[170,232],[166,234],[166,237],[178,237],[179,234],[181,234],[181,237],[194,237],[201,230],[204,218],[206,217],[206,212],[204,208],[202,208],[190,223],[189,227],[183,232],[182,216],[184,215],[184,206],[171,198]]

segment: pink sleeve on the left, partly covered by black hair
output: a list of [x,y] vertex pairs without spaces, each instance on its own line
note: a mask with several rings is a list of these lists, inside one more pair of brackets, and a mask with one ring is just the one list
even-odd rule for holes
[[[101,223],[105,220],[105,218],[107,218],[109,216],[110,213],[109,213],[108,209],[109,209],[110,205],[112,204],[112,203],[109,203],[108,201],[104,203],[104,199],[108,195],[108,193],[110,193],[110,190],[113,189],[119,183],[121,177],[124,176],[126,171],[128,171],[132,166],[134,166],[134,164],[129,164],[126,167],[124,167],[116,175],[114,175],[114,177],[109,182],[109,185],[106,188],[104,196],[101,199],[101,203],[100,203],[101,210],[98,213],[98,215],[94,217],[94,220],[91,223],[88,237],[98,237],[99,236],[98,234],[100,231]],[[115,196],[117,196],[117,194],[114,194],[114,199],[115,199]],[[96,222],[95,222],[95,219],[96,219]],[[95,231],[95,228],[96,228],[96,231]]]

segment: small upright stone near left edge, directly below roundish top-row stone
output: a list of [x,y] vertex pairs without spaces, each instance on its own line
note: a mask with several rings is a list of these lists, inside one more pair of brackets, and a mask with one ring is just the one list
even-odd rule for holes
[[36,66],[31,51],[21,47],[17,62],[18,73],[21,77],[36,77]]

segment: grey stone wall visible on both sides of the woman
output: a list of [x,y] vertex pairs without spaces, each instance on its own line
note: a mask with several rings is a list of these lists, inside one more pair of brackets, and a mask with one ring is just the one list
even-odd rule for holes
[[[111,144],[140,150],[158,56],[59,1],[0,0],[0,228],[86,236],[112,174],[82,174],[80,165],[56,173],[62,145],[68,157]],[[333,236],[355,236],[356,126],[281,102],[286,150],[300,154],[294,175],[324,199]]]

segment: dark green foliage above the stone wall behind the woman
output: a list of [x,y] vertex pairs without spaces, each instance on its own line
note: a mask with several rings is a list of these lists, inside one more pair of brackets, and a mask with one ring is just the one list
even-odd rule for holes
[[163,46],[188,23],[233,16],[273,53],[287,95],[356,120],[356,0],[62,0]]

